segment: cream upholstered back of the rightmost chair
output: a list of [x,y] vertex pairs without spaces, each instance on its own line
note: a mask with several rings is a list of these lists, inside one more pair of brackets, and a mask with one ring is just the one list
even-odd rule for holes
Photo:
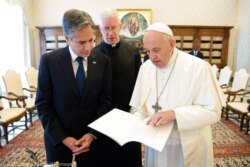
[[232,91],[237,91],[241,89],[245,90],[248,79],[249,79],[249,74],[245,69],[240,69],[239,71],[235,72],[231,90]]

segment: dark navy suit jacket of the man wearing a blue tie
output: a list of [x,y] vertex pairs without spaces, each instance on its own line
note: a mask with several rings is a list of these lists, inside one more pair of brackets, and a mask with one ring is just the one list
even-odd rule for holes
[[79,139],[88,132],[95,133],[87,125],[110,108],[111,70],[110,59],[93,51],[88,58],[84,95],[80,97],[69,48],[46,53],[41,57],[36,107],[45,130],[48,162],[71,161],[72,152],[62,144],[65,137]]

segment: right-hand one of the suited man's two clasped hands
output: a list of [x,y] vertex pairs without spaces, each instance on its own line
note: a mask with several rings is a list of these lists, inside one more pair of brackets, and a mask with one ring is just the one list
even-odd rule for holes
[[82,138],[80,138],[74,143],[77,148],[72,150],[73,155],[79,155],[81,153],[89,151],[90,145],[94,139],[94,136],[90,133],[87,133],[82,136]]

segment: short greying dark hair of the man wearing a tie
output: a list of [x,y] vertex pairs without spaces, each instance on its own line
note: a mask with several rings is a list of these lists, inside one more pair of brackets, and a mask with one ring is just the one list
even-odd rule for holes
[[88,26],[94,28],[95,24],[91,16],[84,11],[70,9],[63,15],[62,29],[64,34],[70,39],[73,39],[73,33],[75,31],[81,30],[82,28]]

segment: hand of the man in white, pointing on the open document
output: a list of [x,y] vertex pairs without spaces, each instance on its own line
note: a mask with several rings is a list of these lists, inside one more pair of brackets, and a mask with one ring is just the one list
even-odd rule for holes
[[174,120],[175,120],[175,113],[173,110],[169,110],[164,112],[157,112],[156,114],[152,115],[147,121],[147,124],[157,127]]

